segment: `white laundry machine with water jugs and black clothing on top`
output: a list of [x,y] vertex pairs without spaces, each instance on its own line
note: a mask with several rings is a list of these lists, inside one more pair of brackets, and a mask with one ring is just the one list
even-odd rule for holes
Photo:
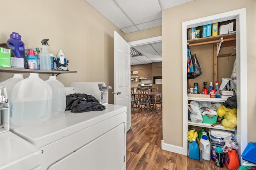
[[125,106],[108,104],[10,131],[41,150],[42,170],[125,170],[126,115]]

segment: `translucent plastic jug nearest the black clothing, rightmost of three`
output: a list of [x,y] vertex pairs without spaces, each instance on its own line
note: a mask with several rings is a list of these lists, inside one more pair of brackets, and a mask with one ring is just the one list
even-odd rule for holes
[[66,92],[64,85],[56,79],[56,76],[50,76],[45,82],[52,88],[52,114],[65,111]]

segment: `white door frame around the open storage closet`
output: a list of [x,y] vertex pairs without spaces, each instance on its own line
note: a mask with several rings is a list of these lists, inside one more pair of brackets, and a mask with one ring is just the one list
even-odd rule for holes
[[[238,154],[241,155],[248,144],[247,127],[247,47],[246,47],[246,8],[224,12],[212,16],[182,22],[182,81],[183,81],[183,150],[188,154],[188,97],[187,97],[187,29],[209,23],[236,19],[236,66],[237,66],[237,135]],[[183,151],[183,152],[182,152]],[[240,157],[241,163],[244,161]]]

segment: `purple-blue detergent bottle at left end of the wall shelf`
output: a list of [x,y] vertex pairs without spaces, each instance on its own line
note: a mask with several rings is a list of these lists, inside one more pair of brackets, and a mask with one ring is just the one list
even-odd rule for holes
[[21,35],[16,32],[11,33],[10,39],[7,40],[7,44],[15,57],[24,59],[25,47],[24,43],[21,41]]

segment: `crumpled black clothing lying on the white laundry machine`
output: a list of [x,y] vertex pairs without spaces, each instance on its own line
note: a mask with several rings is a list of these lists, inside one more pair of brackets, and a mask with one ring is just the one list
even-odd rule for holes
[[81,113],[86,111],[101,111],[106,107],[99,103],[99,101],[92,95],[88,94],[68,94],[66,96],[66,110],[74,113]]

